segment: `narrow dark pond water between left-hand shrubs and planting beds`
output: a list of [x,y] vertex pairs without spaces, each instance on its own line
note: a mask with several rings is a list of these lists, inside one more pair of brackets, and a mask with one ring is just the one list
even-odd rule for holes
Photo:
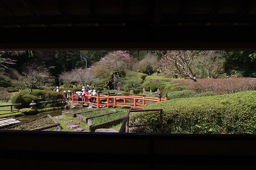
[[29,120],[32,120],[32,119],[35,119],[35,118],[39,118],[41,116],[44,116],[46,114],[49,114],[51,115],[52,117],[53,116],[59,116],[62,114],[62,111],[64,111],[65,109],[59,109],[59,110],[51,110],[51,111],[47,111],[47,112],[40,112],[40,113],[37,113],[37,114],[32,114],[32,115],[24,115],[24,116],[21,116],[21,117],[17,117],[15,118],[16,120],[19,120],[21,122],[27,122]]

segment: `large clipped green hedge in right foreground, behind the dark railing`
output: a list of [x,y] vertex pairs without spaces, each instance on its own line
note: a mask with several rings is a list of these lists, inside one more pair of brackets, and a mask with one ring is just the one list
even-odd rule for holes
[[[163,129],[144,126],[140,132],[182,134],[256,134],[256,91],[180,98],[146,107],[163,108]],[[158,113],[135,113],[130,124],[157,124]]]

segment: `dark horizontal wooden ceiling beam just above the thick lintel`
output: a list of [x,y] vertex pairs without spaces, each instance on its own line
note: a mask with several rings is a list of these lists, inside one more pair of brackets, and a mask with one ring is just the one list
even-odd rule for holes
[[[223,22],[223,23],[256,23],[255,14],[189,14],[162,15],[157,14],[153,19],[155,28],[159,23],[171,25],[176,22]],[[148,15],[34,15],[34,16],[5,16],[0,17],[0,25],[21,24],[77,24],[77,23],[130,23],[131,26],[149,26]]]

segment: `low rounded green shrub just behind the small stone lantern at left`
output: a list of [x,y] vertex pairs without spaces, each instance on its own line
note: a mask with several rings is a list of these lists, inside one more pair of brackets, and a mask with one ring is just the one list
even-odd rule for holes
[[15,108],[30,108],[29,104],[32,101],[38,102],[38,100],[39,99],[36,96],[30,94],[16,94],[11,98],[11,103],[21,103],[21,106],[15,106]]

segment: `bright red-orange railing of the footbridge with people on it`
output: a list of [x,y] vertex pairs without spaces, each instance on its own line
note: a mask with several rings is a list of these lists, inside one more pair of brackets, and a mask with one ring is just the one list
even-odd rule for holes
[[[149,97],[141,97],[141,96],[110,96],[110,95],[100,95],[98,93],[97,96],[88,96],[84,95],[82,97],[82,101],[76,100],[76,96],[80,97],[79,94],[72,95],[72,103],[88,103],[97,106],[100,108],[101,106],[119,106],[119,107],[131,107],[131,108],[140,108],[143,109],[145,106],[145,101],[150,102],[160,102],[162,100],[167,100],[167,93],[165,93],[165,98],[161,98],[160,94],[158,94],[158,98],[149,98]],[[86,98],[95,98],[96,102],[92,103]],[[113,101],[113,102],[111,102]],[[132,101],[132,103],[130,102]]]

